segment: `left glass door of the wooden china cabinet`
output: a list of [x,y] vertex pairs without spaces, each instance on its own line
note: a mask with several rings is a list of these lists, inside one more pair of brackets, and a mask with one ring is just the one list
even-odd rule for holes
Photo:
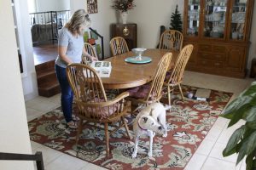
[[199,19],[200,19],[200,0],[189,0],[187,36],[198,36]]

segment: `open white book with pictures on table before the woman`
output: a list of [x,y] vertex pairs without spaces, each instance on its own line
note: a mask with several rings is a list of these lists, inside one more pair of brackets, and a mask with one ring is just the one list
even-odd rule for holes
[[111,62],[92,61],[90,66],[96,70],[100,77],[110,77],[110,73],[112,70]]

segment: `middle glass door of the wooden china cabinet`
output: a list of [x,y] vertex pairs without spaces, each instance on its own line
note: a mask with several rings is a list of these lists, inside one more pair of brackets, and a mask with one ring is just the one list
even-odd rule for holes
[[203,37],[224,38],[227,0],[205,0]]

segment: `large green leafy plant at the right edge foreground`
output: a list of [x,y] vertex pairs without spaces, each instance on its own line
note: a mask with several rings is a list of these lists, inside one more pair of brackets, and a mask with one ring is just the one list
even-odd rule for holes
[[231,135],[223,156],[238,153],[236,165],[246,157],[247,170],[256,168],[256,82],[243,91],[224,109],[221,115],[230,119],[228,127],[239,120],[246,121]]

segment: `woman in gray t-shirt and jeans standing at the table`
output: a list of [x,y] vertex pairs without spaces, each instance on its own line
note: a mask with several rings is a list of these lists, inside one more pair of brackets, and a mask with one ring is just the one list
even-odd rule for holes
[[70,63],[80,63],[82,54],[92,60],[96,58],[86,53],[84,48],[84,29],[90,26],[89,15],[84,9],[77,10],[67,24],[61,29],[58,39],[58,57],[55,60],[55,72],[61,85],[61,107],[67,127],[76,128],[73,120],[73,92],[70,87],[66,67]]

